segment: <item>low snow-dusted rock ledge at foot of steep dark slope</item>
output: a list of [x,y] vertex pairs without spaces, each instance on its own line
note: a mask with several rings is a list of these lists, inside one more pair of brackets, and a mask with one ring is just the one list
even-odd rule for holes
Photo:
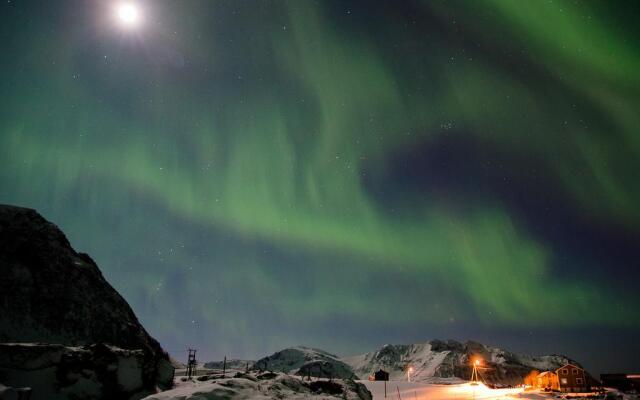
[[156,368],[143,350],[104,344],[0,344],[2,379],[30,387],[31,398],[139,399],[153,392],[158,374],[173,378],[173,368]]

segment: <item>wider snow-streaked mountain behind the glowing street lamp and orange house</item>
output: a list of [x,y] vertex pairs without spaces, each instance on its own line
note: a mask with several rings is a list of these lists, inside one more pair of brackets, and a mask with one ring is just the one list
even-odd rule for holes
[[[577,364],[561,355],[528,356],[516,354],[477,342],[460,343],[454,340],[432,340],[410,345],[385,345],[380,350],[344,357],[341,361],[351,366],[361,379],[382,368],[390,373],[390,379],[406,379],[407,367],[415,381],[469,379],[471,360],[482,358],[480,375],[485,382],[520,384],[532,369],[555,370],[567,363]],[[579,364],[577,364],[579,365]]]

